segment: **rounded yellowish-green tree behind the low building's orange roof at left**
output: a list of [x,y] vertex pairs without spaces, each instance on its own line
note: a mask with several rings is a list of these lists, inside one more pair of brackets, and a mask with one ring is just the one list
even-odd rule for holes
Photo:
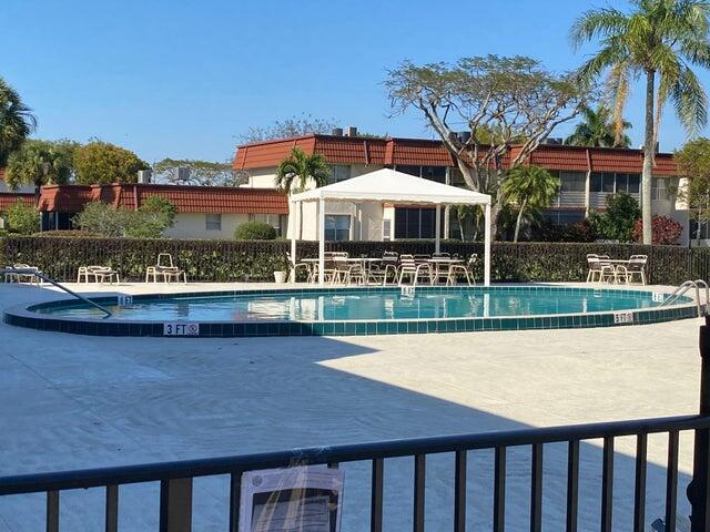
[[74,152],[77,183],[83,185],[135,183],[138,171],[149,167],[133,152],[108,142],[90,142]]

